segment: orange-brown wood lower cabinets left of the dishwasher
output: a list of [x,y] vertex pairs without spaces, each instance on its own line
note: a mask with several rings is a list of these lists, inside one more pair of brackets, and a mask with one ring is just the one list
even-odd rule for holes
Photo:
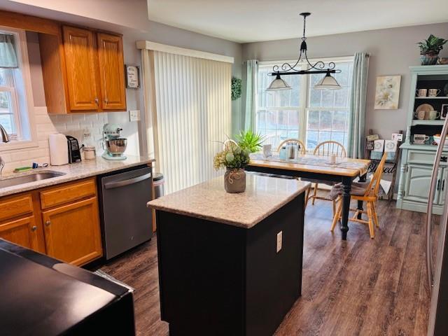
[[0,238],[78,266],[101,257],[95,179],[0,198]]

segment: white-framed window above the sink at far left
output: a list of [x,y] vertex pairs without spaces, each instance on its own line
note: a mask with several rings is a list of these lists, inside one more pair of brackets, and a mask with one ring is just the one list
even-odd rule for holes
[[0,125],[10,137],[0,142],[0,151],[36,146],[25,31],[0,27],[0,55]]

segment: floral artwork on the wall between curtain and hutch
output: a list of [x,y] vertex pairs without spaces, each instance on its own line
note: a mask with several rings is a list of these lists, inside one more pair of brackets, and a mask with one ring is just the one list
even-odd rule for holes
[[400,99],[401,76],[377,76],[374,109],[396,110]]

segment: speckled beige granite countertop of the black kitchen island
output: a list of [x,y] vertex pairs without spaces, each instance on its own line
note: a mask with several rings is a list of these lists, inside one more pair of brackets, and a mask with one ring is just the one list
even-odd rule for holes
[[230,194],[223,176],[148,202],[148,207],[204,218],[240,228],[252,228],[309,187],[296,179],[246,174],[246,191]]

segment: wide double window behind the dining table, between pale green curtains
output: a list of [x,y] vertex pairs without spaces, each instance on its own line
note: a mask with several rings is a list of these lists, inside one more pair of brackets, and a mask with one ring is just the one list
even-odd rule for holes
[[[341,90],[317,90],[314,85],[323,74],[291,75],[282,78],[291,90],[266,92],[272,81],[275,63],[261,62],[258,67],[257,132],[265,135],[274,148],[286,139],[300,139],[313,151],[322,141],[334,140],[347,146],[352,59],[327,59],[335,62],[341,73],[335,73]],[[326,65],[326,64],[325,64]],[[332,75],[333,76],[333,75]]]

